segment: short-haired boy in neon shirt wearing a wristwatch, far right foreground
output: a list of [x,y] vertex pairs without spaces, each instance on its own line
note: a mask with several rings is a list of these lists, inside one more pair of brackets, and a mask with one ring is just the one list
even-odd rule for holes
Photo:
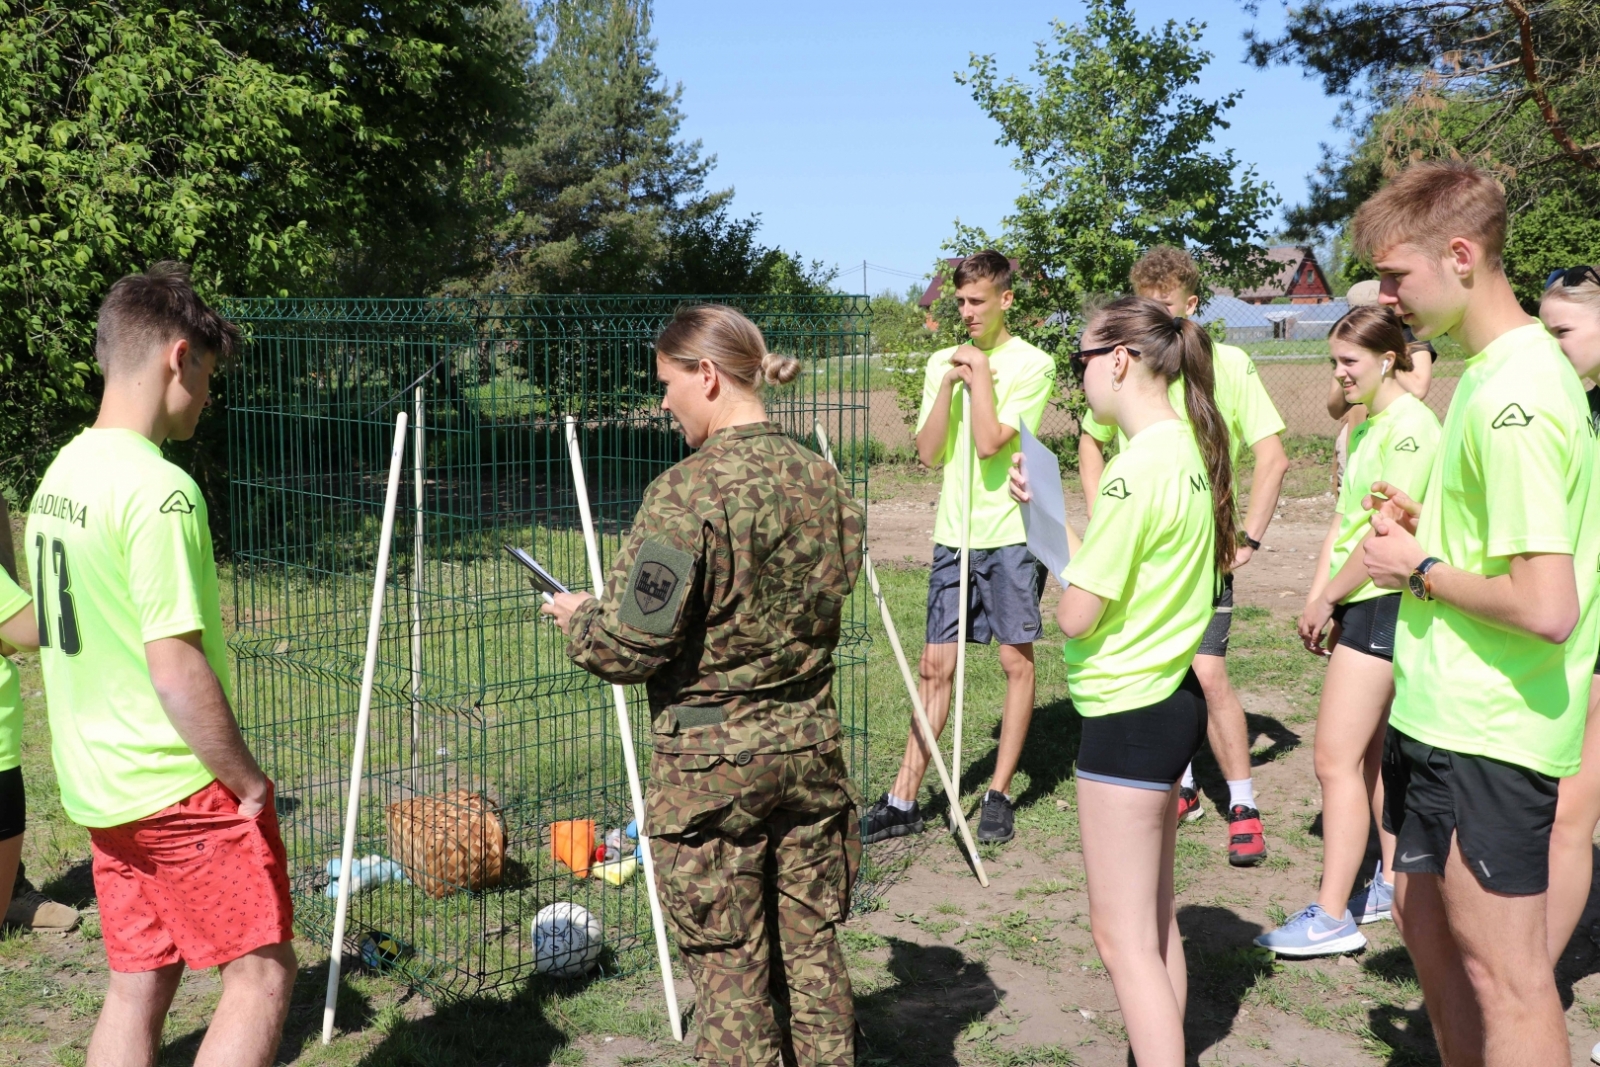
[[1406,590],[1382,768],[1395,918],[1445,1062],[1565,1064],[1546,891],[1600,633],[1589,405],[1506,280],[1488,174],[1411,166],[1352,237],[1418,339],[1472,354],[1424,502],[1378,483],[1365,549],[1373,582]]

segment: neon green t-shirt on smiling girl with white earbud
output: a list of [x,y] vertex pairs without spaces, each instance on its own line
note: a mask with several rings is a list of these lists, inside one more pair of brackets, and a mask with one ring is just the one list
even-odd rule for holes
[[[1438,453],[1438,418],[1408,392],[1350,430],[1349,459],[1339,485],[1339,536],[1328,560],[1330,579],[1373,531],[1373,514],[1362,507],[1362,499],[1373,491],[1374,482],[1387,482],[1413,501],[1427,499],[1427,475]],[[1358,603],[1389,592],[1366,579],[1341,603]]]

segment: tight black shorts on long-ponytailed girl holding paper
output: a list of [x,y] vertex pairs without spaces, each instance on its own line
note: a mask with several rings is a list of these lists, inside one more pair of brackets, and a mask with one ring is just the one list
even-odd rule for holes
[[1085,718],[1078,777],[1134,789],[1171,789],[1205,741],[1205,693],[1190,667],[1160,704]]

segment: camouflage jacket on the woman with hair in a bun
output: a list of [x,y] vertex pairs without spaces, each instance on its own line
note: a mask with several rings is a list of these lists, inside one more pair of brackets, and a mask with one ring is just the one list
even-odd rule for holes
[[645,683],[658,752],[739,760],[837,737],[834,646],[862,520],[838,472],[776,424],[718,430],[645,490],[566,654]]

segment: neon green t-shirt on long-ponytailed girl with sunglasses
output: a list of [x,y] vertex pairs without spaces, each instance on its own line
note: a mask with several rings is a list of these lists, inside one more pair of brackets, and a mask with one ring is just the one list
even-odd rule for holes
[[1146,427],[1106,464],[1099,502],[1066,581],[1106,611],[1067,638],[1067,689],[1080,715],[1165,701],[1184,680],[1213,614],[1211,483],[1186,422]]

